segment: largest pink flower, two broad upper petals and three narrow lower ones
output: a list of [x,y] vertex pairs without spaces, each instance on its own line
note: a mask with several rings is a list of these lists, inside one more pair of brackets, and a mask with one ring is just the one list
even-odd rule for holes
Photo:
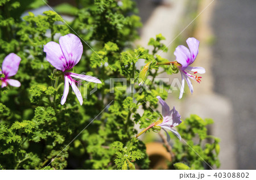
[[70,84],[76,94],[77,99],[82,105],[82,95],[77,88],[76,80],[73,78],[82,79],[93,83],[101,83],[101,81],[97,78],[94,78],[93,76],[80,75],[73,72],[68,72],[68,70],[71,70],[71,68],[80,61],[82,56],[83,49],[79,37],[73,34],[61,36],[59,39],[59,43],[60,44],[57,44],[53,41],[48,42],[46,45],[44,45],[44,52],[46,53],[47,61],[51,63],[51,65],[54,66],[57,70],[63,71],[64,74],[64,92],[60,103],[61,105],[65,103],[68,96]]

